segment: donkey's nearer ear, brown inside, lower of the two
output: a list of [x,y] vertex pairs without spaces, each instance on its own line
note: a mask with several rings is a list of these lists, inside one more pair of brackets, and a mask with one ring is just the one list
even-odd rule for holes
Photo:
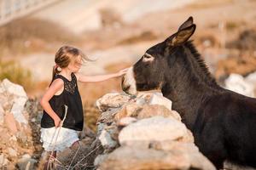
[[192,24],[192,26],[183,28],[182,30],[179,30],[175,34],[173,34],[172,37],[167,39],[167,44],[171,46],[180,45],[183,42],[188,41],[189,37],[191,37],[194,32],[195,24]]

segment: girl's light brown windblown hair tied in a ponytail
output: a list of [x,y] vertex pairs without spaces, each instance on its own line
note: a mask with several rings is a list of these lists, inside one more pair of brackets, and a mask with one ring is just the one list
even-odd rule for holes
[[81,56],[83,62],[90,60],[78,48],[62,46],[55,54],[55,66],[53,67],[51,82],[53,82],[55,75],[61,72],[58,71],[58,68],[66,68],[67,65],[78,56]]

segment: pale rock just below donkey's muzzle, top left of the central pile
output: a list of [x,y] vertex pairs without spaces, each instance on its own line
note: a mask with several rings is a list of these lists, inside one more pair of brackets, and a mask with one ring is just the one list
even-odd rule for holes
[[127,94],[106,94],[101,99],[96,100],[96,106],[100,111],[108,111],[109,108],[119,108],[130,100]]

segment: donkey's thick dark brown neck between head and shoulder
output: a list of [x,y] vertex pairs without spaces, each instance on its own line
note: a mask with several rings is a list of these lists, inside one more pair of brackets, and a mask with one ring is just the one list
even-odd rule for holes
[[200,56],[194,56],[189,48],[178,50],[172,72],[166,75],[161,89],[164,96],[172,100],[172,109],[178,111],[183,122],[191,129],[201,105],[222,88],[207,72]]

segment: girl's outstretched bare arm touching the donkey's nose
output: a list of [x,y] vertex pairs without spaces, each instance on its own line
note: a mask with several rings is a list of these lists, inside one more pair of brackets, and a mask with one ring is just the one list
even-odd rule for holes
[[120,77],[124,75],[127,70],[128,69],[126,68],[113,74],[99,75],[99,76],[85,76],[81,73],[75,73],[75,75],[79,82],[102,82],[102,81],[108,80],[109,78]]

